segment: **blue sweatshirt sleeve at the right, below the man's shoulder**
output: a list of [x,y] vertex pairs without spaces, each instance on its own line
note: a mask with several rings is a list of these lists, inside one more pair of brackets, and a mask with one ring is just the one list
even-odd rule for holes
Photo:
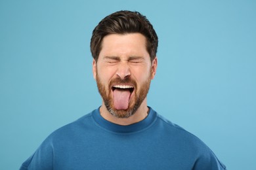
[[211,150],[203,154],[194,164],[193,170],[225,170],[226,166],[221,163]]

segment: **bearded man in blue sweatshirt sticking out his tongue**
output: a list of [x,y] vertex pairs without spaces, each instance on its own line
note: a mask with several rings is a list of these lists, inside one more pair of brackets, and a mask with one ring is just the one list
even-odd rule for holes
[[225,169],[200,139],[147,106],[157,47],[139,12],[104,18],[91,38],[101,107],[54,131],[20,169]]

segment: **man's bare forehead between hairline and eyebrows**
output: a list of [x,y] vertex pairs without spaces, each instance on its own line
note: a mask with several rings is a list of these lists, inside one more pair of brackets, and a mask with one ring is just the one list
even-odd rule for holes
[[146,37],[141,33],[110,34],[102,40],[100,54],[148,54],[146,50]]

